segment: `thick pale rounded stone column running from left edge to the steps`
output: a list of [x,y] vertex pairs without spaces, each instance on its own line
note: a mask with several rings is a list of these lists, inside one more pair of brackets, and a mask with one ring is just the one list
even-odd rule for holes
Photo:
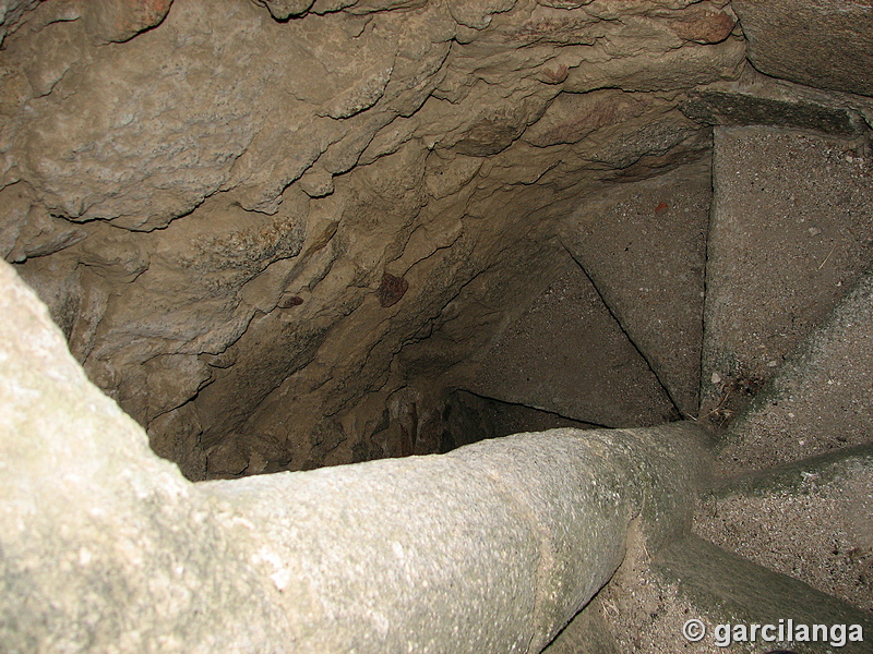
[[[539,652],[690,521],[691,424],[191,484],[0,266],[10,652]],[[642,519],[642,520],[641,520]]]

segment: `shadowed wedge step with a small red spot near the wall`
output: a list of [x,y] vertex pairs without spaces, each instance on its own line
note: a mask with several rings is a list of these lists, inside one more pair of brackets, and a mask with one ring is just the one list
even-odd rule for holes
[[709,157],[586,198],[561,240],[677,407],[697,414]]

